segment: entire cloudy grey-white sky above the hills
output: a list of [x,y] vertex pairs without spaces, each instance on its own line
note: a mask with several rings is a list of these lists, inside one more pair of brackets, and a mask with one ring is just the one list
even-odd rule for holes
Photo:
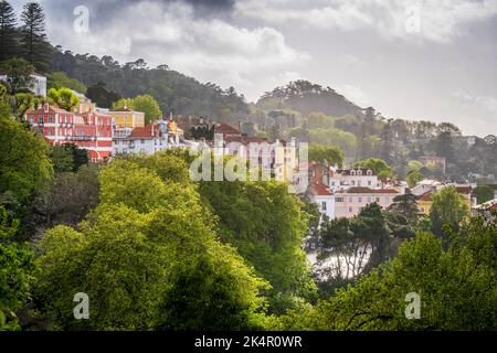
[[74,53],[167,64],[247,101],[308,79],[388,118],[497,135],[497,0],[39,2]]

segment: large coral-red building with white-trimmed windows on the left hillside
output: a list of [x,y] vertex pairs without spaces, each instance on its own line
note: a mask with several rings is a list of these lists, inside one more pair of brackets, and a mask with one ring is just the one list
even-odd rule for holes
[[27,113],[31,129],[49,143],[74,143],[86,149],[92,161],[103,161],[113,152],[113,119],[96,111],[75,114],[44,104]]

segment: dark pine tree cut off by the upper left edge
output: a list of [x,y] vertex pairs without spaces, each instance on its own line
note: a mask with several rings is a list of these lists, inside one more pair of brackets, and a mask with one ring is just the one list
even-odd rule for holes
[[8,1],[0,0],[0,62],[17,53],[15,14]]

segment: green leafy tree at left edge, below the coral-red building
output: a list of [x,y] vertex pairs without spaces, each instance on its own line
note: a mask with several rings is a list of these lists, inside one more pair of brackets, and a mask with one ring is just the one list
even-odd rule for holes
[[20,203],[46,186],[52,175],[49,147],[10,117],[0,117],[0,194],[11,192]]

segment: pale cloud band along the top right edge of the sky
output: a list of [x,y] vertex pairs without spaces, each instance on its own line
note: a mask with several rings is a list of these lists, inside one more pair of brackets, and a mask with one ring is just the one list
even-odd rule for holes
[[466,25],[497,14],[495,0],[246,0],[239,15],[267,23],[300,23],[328,31],[373,30],[385,39],[448,43]]

